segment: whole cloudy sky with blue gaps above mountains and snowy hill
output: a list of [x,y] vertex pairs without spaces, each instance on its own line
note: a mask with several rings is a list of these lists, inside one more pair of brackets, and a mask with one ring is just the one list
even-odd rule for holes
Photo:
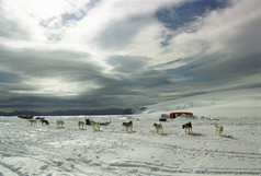
[[0,0],[0,112],[261,86],[260,0]]

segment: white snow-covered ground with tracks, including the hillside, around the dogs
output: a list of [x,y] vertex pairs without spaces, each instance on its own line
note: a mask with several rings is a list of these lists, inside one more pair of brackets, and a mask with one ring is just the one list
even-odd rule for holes
[[[215,93],[151,105],[132,116],[89,117],[111,121],[101,131],[78,128],[88,116],[46,117],[49,126],[0,117],[0,175],[261,175],[260,95],[260,89]],[[195,117],[168,119],[157,134],[152,125],[159,115],[175,110]],[[60,119],[65,128],[57,128]],[[122,122],[129,120],[134,128],[126,132]],[[190,134],[181,128],[189,120]],[[224,127],[223,137],[215,122]]]

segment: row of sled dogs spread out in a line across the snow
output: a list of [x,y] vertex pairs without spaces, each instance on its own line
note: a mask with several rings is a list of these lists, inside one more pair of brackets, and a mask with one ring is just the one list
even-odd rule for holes
[[[30,119],[29,120],[31,126],[37,125],[36,119]],[[42,126],[48,126],[49,121],[46,120],[45,118],[39,119],[39,122],[42,124]],[[94,121],[94,120],[90,120],[90,125],[92,126],[92,129],[94,131],[100,131],[100,126],[107,126],[110,125],[111,121],[109,122],[100,122],[100,121]],[[64,128],[65,126],[65,121],[64,120],[57,120],[57,128]],[[84,121],[78,121],[78,126],[79,129],[84,129],[86,127],[86,122]],[[122,124],[123,127],[125,127],[126,131],[133,131],[133,121],[128,121],[128,122],[123,122]],[[223,131],[224,131],[224,127],[223,126],[217,126],[217,124],[214,125],[215,126],[215,131],[216,134],[222,137],[223,136]],[[162,124],[154,124],[154,127],[156,129],[156,133],[163,133],[163,126]],[[192,122],[189,121],[184,125],[182,125],[182,129],[185,130],[185,132],[188,131],[189,133],[192,132]]]

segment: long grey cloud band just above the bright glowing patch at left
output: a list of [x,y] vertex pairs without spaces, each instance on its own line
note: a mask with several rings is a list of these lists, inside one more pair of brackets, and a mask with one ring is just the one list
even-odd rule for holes
[[21,77],[60,77],[81,81],[84,77],[95,74],[98,64],[88,61],[88,54],[66,50],[3,50],[1,49],[1,67]]

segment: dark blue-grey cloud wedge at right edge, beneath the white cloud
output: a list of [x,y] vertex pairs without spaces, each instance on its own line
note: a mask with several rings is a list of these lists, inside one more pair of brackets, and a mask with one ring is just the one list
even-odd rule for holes
[[[235,60],[234,60],[235,59]],[[261,52],[248,57],[212,59],[200,67],[188,70],[196,80],[227,83],[231,80],[246,79],[251,75],[260,75]]]

